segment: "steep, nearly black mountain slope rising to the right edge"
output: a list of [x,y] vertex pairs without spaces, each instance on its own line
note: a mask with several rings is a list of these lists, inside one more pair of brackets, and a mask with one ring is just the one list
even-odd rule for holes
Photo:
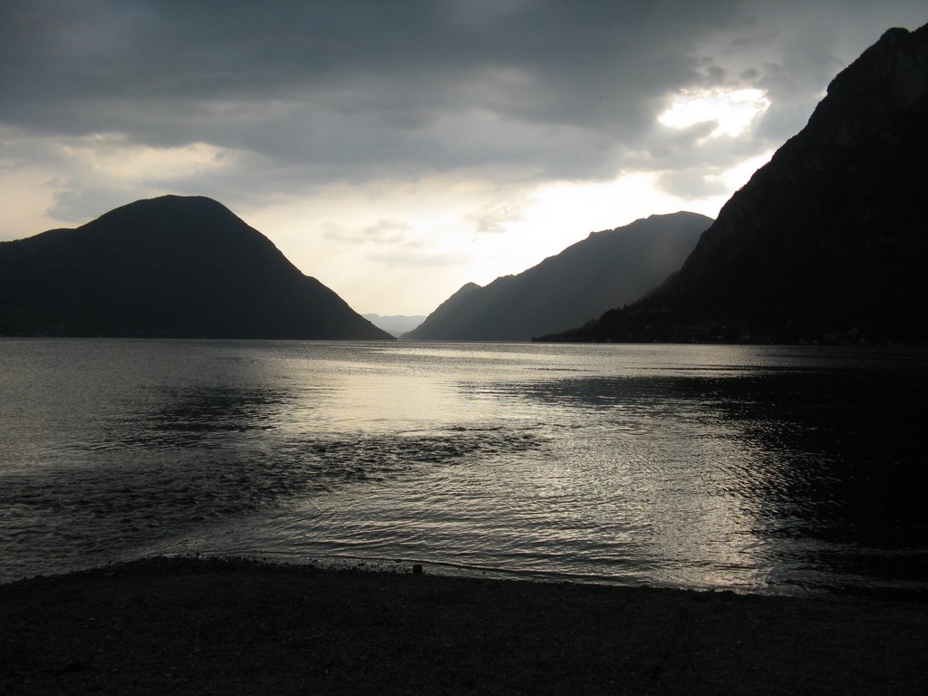
[[928,342],[928,25],[892,29],[679,273],[567,341]]

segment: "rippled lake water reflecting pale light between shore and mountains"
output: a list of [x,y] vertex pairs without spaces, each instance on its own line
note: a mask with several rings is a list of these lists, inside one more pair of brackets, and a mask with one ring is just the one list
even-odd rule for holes
[[204,553],[926,596],[926,384],[891,349],[4,340],[0,581]]

